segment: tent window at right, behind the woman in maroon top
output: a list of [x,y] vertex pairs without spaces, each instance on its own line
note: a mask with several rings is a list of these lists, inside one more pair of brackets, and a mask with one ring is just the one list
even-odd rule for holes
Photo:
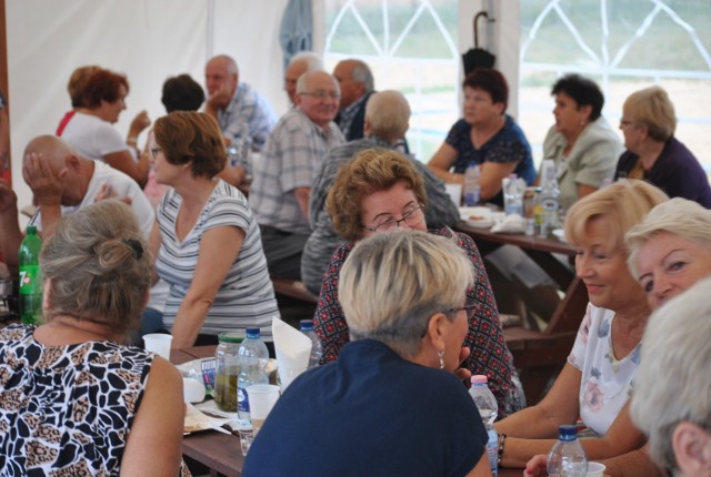
[[537,160],[553,124],[550,88],[578,72],[602,87],[611,124],[630,93],[664,88],[677,111],[677,138],[711,172],[708,0],[523,0],[520,8],[520,122]]

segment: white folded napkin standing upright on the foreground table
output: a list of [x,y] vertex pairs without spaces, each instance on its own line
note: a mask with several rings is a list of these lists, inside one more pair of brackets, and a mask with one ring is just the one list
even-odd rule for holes
[[311,339],[279,318],[272,318],[271,333],[282,390],[309,366]]

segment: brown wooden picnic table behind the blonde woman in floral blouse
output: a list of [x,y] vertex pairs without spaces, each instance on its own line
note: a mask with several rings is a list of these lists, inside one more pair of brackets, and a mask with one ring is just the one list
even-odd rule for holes
[[527,399],[529,404],[535,404],[542,397],[550,378],[565,362],[588,305],[588,291],[582,281],[553,256],[574,256],[575,251],[554,237],[494,234],[488,229],[475,229],[464,222],[460,222],[455,230],[471,236],[482,256],[502,245],[518,246],[565,292],[565,297],[542,332],[521,326],[503,329],[507,345],[513,355],[513,364],[521,371]]

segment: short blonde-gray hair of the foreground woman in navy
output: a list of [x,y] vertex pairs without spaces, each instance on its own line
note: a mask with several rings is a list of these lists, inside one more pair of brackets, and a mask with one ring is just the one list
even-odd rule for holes
[[352,341],[377,339],[411,357],[430,317],[461,306],[474,280],[471,260],[453,240],[398,229],[356,244],[338,293]]

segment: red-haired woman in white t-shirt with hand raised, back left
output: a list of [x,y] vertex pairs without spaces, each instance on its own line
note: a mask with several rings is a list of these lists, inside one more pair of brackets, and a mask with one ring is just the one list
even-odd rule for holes
[[83,88],[83,105],[66,123],[61,138],[89,159],[102,161],[131,176],[140,186],[148,179],[148,154],[139,154],[138,135],[151,120],[141,111],[131,121],[126,141],[111,126],[126,109],[129,82],[109,70],[93,72]]

